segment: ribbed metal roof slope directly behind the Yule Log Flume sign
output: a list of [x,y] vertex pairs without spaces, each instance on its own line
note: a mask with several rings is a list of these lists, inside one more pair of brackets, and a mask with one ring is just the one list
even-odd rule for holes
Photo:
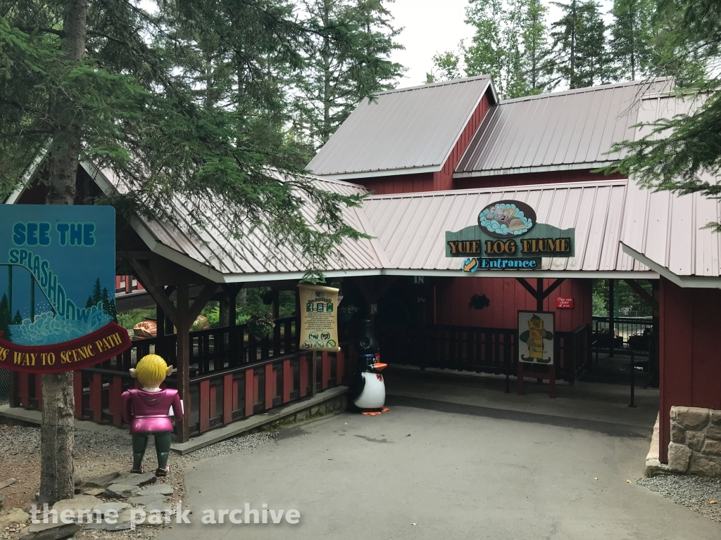
[[[477,224],[478,212],[493,201],[515,199],[531,205],[538,222],[575,228],[576,256],[543,258],[543,271],[647,271],[619,246],[626,191],[627,180],[613,180],[377,195],[365,200],[363,210],[389,257],[386,269],[464,275],[462,259],[446,257],[446,231]],[[515,274],[479,271],[474,276]]]

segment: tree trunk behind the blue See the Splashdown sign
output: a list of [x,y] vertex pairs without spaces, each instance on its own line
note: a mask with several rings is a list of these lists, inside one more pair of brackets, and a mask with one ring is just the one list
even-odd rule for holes
[[[63,60],[79,62],[85,53],[88,0],[66,0]],[[50,153],[47,204],[73,204],[81,145],[81,126],[73,102],[60,93],[55,100],[58,130]],[[40,426],[40,503],[72,498],[75,399],[73,372],[44,374],[43,421]]]

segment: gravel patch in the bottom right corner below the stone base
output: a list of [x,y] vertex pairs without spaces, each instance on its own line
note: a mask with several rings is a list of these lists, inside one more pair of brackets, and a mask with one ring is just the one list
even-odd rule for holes
[[721,479],[663,474],[636,483],[721,523]]

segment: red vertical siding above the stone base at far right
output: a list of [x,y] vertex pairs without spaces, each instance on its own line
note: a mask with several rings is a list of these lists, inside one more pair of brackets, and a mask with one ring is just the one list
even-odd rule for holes
[[673,405],[721,409],[721,291],[682,289],[660,279],[659,454],[668,459]]

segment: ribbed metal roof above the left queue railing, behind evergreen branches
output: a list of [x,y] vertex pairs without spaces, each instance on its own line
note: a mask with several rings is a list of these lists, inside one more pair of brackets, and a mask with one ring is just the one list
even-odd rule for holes
[[[128,184],[108,170],[99,170],[89,163],[82,164],[102,189],[125,192]],[[365,193],[363,186],[348,182],[314,178],[322,189],[342,194]],[[230,222],[227,212],[217,199],[194,199],[192,202],[173,197],[167,208],[171,220],[151,220],[136,216],[134,228],[151,248],[165,258],[202,274],[215,282],[248,282],[273,279],[293,279],[302,276],[311,266],[310,259],[298,246],[275,246],[263,230],[249,230],[242,224]],[[198,216],[200,219],[191,217]],[[314,223],[315,209],[306,204],[302,210],[306,220]],[[374,235],[360,209],[345,208],[345,221],[356,230]],[[238,236],[238,234],[242,236]],[[377,240],[343,240],[339,251],[342,257],[330,261],[327,275],[333,271],[376,270],[386,262],[384,253],[376,252]],[[277,275],[276,275],[277,274]],[[342,275],[342,272],[341,274]]]

